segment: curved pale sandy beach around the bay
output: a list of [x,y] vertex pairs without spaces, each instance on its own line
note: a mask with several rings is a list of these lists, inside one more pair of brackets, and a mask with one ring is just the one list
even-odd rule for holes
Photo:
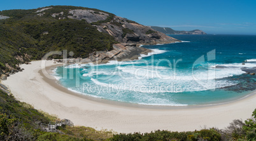
[[[55,67],[46,61],[46,68]],[[120,133],[154,130],[194,131],[204,126],[224,128],[233,119],[247,119],[256,108],[256,92],[222,105],[200,107],[150,107],[125,105],[98,98],[84,97],[59,86],[53,77],[42,76],[41,61],[22,65],[25,70],[2,83],[18,100],[34,108],[70,119],[76,126],[106,128]],[[43,67],[43,65],[42,65]]]

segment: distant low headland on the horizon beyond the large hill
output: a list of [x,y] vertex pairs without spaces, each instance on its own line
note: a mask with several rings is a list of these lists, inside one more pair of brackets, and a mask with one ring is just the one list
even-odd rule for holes
[[150,26],[152,29],[155,29],[159,32],[162,32],[164,34],[191,34],[191,35],[203,35],[206,34],[206,32],[203,32],[202,30],[196,29],[191,31],[185,31],[185,30],[173,30],[169,27],[156,27],[156,26]]

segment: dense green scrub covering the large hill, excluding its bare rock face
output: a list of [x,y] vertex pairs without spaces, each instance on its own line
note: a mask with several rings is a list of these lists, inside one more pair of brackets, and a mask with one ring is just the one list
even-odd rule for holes
[[[41,17],[35,13],[38,9],[0,11],[0,15],[10,17],[0,20],[0,74],[10,72],[10,67],[15,69],[18,64],[29,60],[39,60],[49,51],[68,50],[73,51],[74,58],[86,58],[94,51],[112,50],[113,44],[117,43],[114,37],[99,32],[87,22],[68,18],[69,10],[86,9],[96,13],[101,10],[75,6],[46,8],[50,9],[43,11],[45,14]],[[61,12],[63,15],[52,17],[53,13]],[[110,17],[99,23],[110,22],[115,16],[108,14]],[[64,20],[59,20],[59,17]]]

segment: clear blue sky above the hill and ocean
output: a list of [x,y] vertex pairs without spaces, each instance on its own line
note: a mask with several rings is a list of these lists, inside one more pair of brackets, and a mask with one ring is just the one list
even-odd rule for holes
[[0,10],[34,9],[50,5],[97,8],[139,24],[171,27],[174,30],[201,29],[208,34],[256,34],[254,0],[2,0]]

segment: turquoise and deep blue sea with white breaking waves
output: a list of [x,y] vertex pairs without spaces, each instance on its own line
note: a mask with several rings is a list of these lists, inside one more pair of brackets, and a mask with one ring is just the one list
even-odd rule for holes
[[54,75],[83,95],[145,105],[219,104],[255,90],[246,71],[256,72],[256,36],[171,36],[183,42],[143,46],[153,53],[131,62],[57,67]]

